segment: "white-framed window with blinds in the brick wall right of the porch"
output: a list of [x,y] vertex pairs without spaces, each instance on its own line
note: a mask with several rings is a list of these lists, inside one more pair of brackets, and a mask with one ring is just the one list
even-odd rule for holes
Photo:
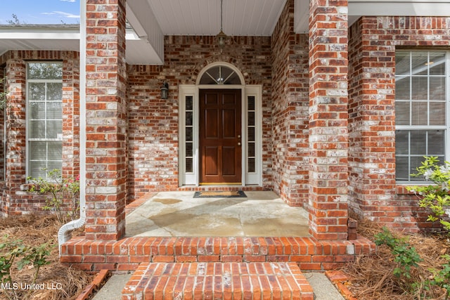
[[424,156],[446,159],[448,53],[397,51],[395,58],[395,159],[397,181],[413,177]]

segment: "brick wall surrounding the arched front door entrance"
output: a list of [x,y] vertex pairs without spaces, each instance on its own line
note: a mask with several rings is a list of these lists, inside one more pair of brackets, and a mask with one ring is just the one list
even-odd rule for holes
[[[129,201],[178,183],[178,85],[195,84],[214,62],[236,66],[245,84],[262,84],[264,188],[271,188],[271,39],[229,37],[222,51],[215,37],[165,37],[165,65],[128,67]],[[169,98],[160,86],[169,83]]]

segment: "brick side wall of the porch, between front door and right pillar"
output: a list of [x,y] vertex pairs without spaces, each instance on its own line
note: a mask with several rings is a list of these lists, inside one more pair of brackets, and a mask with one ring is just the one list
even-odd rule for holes
[[308,36],[294,33],[294,1],[272,34],[274,191],[290,205],[308,201]]

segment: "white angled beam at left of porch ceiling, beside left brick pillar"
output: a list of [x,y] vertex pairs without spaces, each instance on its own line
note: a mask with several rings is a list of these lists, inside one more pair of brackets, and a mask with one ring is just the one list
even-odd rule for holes
[[[128,0],[127,20],[131,27],[133,27],[135,34],[146,44],[145,48],[151,48],[151,52],[158,56],[158,62],[163,62],[164,34],[148,1]],[[131,40],[136,39],[136,37],[131,37],[129,34],[127,34],[127,37]]]

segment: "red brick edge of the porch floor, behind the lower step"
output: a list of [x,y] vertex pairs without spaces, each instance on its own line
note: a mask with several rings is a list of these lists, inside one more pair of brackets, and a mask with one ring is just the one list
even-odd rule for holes
[[82,270],[136,270],[146,262],[295,262],[301,270],[331,270],[375,252],[364,237],[328,241],[314,237],[127,237],[119,241],[72,238],[60,260]]

